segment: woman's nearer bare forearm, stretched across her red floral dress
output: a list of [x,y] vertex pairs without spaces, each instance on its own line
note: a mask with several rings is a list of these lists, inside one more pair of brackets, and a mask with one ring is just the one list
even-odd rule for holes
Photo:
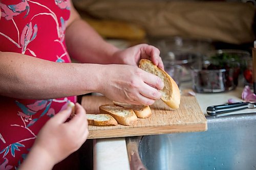
[[[97,91],[97,64],[56,63],[18,53],[0,52],[0,95],[54,99]],[[93,72],[98,71],[98,74]]]

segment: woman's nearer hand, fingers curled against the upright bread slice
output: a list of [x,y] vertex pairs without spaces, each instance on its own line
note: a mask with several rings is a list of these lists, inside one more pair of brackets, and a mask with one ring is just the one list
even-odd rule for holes
[[110,64],[102,65],[99,92],[113,101],[152,105],[161,98],[164,83],[149,72],[136,66]]

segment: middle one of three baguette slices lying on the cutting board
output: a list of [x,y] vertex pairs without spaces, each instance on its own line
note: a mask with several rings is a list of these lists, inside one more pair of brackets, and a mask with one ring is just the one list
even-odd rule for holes
[[138,117],[132,109],[126,109],[115,105],[101,105],[99,112],[102,114],[110,114],[121,125],[133,126]]

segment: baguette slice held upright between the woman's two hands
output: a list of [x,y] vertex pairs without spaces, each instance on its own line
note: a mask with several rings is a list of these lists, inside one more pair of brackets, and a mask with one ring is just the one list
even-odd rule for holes
[[173,78],[171,78],[163,69],[154,65],[150,60],[141,59],[139,67],[162,79],[164,83],[164,88],[161,90],[162,101],[170,108],[178,109],[180,105],[180,90]]

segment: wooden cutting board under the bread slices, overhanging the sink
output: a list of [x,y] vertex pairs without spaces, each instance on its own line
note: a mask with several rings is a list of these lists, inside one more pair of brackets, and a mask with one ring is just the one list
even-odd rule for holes
[[[105,96],[83,96],[82,106],[87,113],[99,113],[99,106],[113,104]],[[111,138],[166,133],[196,132],[207,130],[207,120],[195,96],[187,93],[181,96],[180,108],[173,110],[161,100],[152,106],[149,118],[139,118],[135,126],[92,126],[89,125],[89,139]]]

